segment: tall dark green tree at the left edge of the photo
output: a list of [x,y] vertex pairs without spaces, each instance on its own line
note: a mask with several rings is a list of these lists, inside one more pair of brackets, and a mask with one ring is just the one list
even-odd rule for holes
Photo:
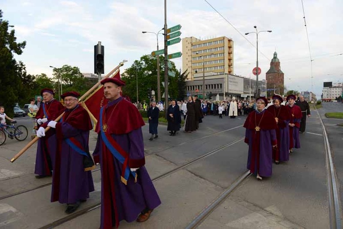
[[2,18],[3,11],[0,10],[0,105],[5,107],[7,114],[12,115],[12,108],[23,91],[20,78],[23,66],[13,58],[13,53],[22,54],[26,41],[17,43],[14,29],[8,32],[8,21]]

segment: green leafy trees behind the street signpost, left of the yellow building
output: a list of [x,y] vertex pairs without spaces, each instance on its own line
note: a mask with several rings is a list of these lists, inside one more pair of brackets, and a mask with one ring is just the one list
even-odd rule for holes
[[[164,57],[160,57],[160,88],[161,97],[164,92],[162,82],[164,82]],[[179,99],[184,94],[186,73],[178,71],[175,64],[171,62],[171,68],[168,71],[176,73],[175,77],[168,77],[169,96],[170,98]],[[121,74],[122,79],[126,82],[126,86],[123,87],[123,95],[130,97],[132,102],[137,101],[137,79],[138,79],[138,99],[140,101],[148,100],[148,89],[155,91],[155,97],[157,96],[157,58],[152,55],[143,55],[139,60],[135,60],[130,68],[127,68],[124,73]],[[180,80],[182,82],[180,82]],[[183,88],[181,88],[183,87]],[[181,88],[181,90],[180,90]],[[182,97],[183,98],[183,97]],[[164,100],[162,98],[162,100]]]

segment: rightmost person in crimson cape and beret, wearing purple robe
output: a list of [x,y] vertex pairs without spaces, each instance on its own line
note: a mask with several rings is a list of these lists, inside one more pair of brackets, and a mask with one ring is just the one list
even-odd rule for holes
[[300,148],[300,138],[299,138],[299,128],[300,122],[302,120],[303,114],[302,110],[295,105],[295,95],[288,95],[287,101],[288,104],[286,106],[289,114],[290,114],[290,122],[288,123],[289,126],[289,153],[293,152],[293,148],[299,149]]

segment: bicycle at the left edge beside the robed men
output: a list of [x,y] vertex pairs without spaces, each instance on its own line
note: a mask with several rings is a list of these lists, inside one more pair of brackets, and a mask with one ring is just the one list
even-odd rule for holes
[[18,141],[24,141],[28,136],[28,129],[25,126],[19,125],[15,127],[14,124],[17,121],[11,121],[11,123],[11,125],[0,123],[0,145],[5,143],[7,138],[6,133],[10,139],[15,138]]

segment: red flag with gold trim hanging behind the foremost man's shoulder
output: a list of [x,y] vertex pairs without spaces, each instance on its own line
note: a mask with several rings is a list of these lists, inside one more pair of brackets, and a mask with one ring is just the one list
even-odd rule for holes
[[[120,79],[119,71],[113,77]],[[94,128],[100,117],[100,108],[107,105],[108,102],[109,100],[106,99],[103,94],[103,85],[101,85],[81,103],[82,107],[88,111],[88,114],[94,124]]]

